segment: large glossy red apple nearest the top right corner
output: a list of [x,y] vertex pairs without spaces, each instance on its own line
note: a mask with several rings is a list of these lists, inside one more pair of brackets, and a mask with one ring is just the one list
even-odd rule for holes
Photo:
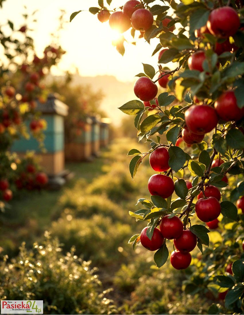
[[231,7],[217,8],[209,14],[207,27],[215,36],[233,36],[240,27],[240,18],[236,10]]

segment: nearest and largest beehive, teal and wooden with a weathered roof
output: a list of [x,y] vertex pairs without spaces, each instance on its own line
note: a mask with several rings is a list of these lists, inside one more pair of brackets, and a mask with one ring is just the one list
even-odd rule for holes
[[[47,121],[44,131],[46,152],[41,152],[38,141],[33,137],[21,137],[14,141],[11,150],[19,155],[24,155],[27,150],[35,150],[47,174],[57,175],[64,170],[64,117],[68,115],[68,106],[50,94],[46,103],[37,102],[36,111],[41,112],[41,118]],[[26,122],[28,128],[29,123]]]

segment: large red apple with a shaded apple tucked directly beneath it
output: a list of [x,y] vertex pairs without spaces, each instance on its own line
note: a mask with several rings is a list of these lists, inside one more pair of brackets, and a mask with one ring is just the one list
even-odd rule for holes
[[218,123],[215,109],[209,105],[192,105],[185,112],[185,121],[191,132],[203,135],[213,130]]

